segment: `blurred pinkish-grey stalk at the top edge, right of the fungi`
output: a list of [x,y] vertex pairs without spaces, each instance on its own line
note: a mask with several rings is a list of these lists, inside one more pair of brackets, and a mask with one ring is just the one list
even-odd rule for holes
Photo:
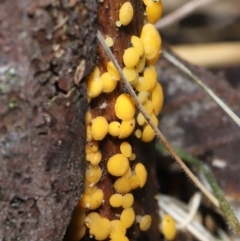
[[167,16],[163,17],[161,20],[159,20],[156,23],[157,29],[163,29],[168,27],[169,25],[183,19],[187,15],[191,14],[193,11],[195,11],[200,6],[212,3],[216,0],[192,0],[182,7],[178,8],[174,12],[168,14]]

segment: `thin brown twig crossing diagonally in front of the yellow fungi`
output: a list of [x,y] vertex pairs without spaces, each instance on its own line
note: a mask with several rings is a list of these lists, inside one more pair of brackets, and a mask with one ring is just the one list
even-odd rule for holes
[[166,138],[163,136],[161,131],[158,129],[158,127],[153,123],[151,117],[148,115],[144,107],[141,105],[141,103],[138,100],[137,95],[135,94],[132,86],[128,83],[127,79],[125,78],[122,69],[120,65],[118,64],[116,58],[114,57],[113,53],[109,49],[109,47],[106,45],[104,38],[100,31],[97,33],[97,37],[99,42],[101,43],[102,47],[104,48],[105,52],[107,53],[108,57],[111,59],[113,64],[115,65],[116,69],[118,70],[123,83],[125,84],[127,90],[129,91],[130,96],[133,98],[135,101],[135,104],[139,111],[143,114],[149,125],[153,128],[155,134],[159,138],[160,141],[164,144],[166,149],[171,153],[173,158],[178,162],[178,164],[182,167],[182,169],[185,171],[185,173],[191,178],[191,180],[195,183],[195,185],[211,200],[211,202],[216,206],[219,207],[218,200],[210,193],[204,185],[197,179],[197,177],[191,172],[191,170],[185,165],[185,163],[178,157],[178,155],[175,153],[169,142],[166,140]]

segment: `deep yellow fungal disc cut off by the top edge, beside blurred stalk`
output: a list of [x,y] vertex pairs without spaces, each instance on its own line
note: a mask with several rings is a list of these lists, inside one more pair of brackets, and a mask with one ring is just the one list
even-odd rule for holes
[[148,22],[155,24],[162,16],[162,2],[149,1],[146,6]]

